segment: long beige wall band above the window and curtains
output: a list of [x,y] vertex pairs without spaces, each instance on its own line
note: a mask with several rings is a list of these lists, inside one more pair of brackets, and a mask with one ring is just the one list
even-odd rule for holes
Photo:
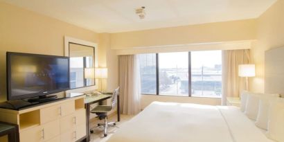
[[113,49],[256,39],[256,19],[111,34]]

